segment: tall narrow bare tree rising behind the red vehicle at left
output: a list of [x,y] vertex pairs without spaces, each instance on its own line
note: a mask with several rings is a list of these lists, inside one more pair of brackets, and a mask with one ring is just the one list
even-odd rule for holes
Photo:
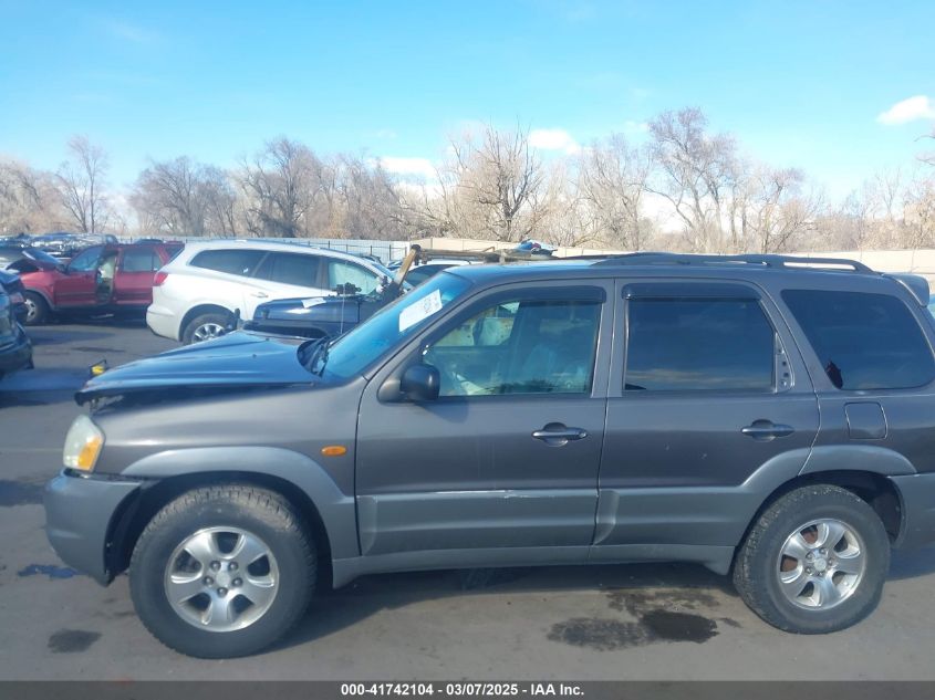
[[86,136],[73,136],[69,153],[70,159],[55,174],[62,205],[79,231],[101,231],[110,216],[104,192],[110,168],[107,154]]

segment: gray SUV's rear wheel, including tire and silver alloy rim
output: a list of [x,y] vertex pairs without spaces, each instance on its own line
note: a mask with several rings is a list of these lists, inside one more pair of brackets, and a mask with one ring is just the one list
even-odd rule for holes
[[734,585],[770,625],[837,631],[876,607],[890,540],[859,497],[830,484],[790,491],[760,516],[737,553]]

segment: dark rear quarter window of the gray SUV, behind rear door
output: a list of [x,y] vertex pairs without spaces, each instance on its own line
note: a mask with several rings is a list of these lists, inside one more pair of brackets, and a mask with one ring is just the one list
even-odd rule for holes
[[910,389],[935,379],[932,347],[901,299],[786,290],[782,300],[839,389]]

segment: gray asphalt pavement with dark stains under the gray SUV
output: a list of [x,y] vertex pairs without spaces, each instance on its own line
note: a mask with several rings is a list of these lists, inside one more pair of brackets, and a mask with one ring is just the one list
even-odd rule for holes
[[125,322],[30,335],[35,369],[0,382],[0,680],[935,679],[935,548],[896,553],[880,609],[834,635],[769,627],[699,566],[539,567],[367,576],[264,654],[180,656],[126,576],[104,588],[59,561],[41,506],[89,366],[176,344]]

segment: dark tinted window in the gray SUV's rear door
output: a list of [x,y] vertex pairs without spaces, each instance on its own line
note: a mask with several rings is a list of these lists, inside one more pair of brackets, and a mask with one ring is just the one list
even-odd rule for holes
[[776,332],[750,299],[631,299],[626,391],[772,391]]

